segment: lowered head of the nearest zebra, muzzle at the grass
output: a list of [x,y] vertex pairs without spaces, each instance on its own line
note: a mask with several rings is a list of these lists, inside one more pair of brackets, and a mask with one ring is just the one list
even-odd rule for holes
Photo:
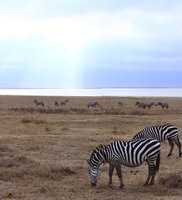
[[87,160],[88,163],[88,170],[91,178],[91,185],[96,186],[97,181],[100,176],[100,171],[96,166],[92,166],[90,160]]

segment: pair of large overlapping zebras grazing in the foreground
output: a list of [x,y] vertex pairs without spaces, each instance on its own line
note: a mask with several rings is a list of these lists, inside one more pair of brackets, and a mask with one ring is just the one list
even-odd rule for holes
[[178,146],[181,157],[181,143],[178,138],[178,129],[172,124],[161,126],[149,126],[136,134],[129,141],[114,141],[108,145],[97,147],[87,160],[91,185],[96,186],[100,176],[101,164],[109,163],[109,184],[112,184],[114,168],[120,179],[120,188],[123,188],[121,164],[128,167],[137,167],[144,163],[148,164],[148,177],[144,185],[153,185],[156,172],[160,166],[161,145],[160,142],[169,141],[172,155],[174,143]]

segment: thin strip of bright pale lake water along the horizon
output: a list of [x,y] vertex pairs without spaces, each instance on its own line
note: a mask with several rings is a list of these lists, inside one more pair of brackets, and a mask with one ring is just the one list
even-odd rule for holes
[[0,95],[182,97],[182,88],[0,89]]

